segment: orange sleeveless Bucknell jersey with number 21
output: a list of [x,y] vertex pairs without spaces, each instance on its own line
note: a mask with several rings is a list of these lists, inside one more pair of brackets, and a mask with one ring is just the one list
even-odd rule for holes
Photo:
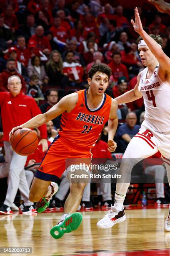
[[87,89],[78,91],[75,108],[70,113],[62,113],[59,135],[73,148],[89,151],[109,119],[112,98],[103,94],[100,105],[89,109],[86,92]]

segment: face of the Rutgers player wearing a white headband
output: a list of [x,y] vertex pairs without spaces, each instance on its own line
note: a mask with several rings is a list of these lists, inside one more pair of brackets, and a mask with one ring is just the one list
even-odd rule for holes
[[149,67],[155,61],[155,56],[150,51],[148,46],[139,46],[138,47],[139,55],[142,61],[142,64],[146,67]]

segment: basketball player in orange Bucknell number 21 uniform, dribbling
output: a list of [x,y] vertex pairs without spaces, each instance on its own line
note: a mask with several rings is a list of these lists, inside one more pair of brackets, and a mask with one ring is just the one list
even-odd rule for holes
[[[63,97],[56,105],[42,115],[37,115],[28,122],[12,129],[11,134],[19,128],[38,127],[62,114],[59,135],[51,143],[45,158],[42,160],[30,189],[30,201],[37,202],[37,212],[42,212],[49,205],[52,195],[58,186],[55,183],[62,173],[70,176],[70,168],[65,161],[78,164],[78,174],[88,174],[81,168],[81,163],[90,163],[91,148],[95,146],[104,124],[108,120],[108,150],[115,151],[113,141],[117,129],[117,102],[104,92],[107,89],[111,69],[105,64],[94,64],[88,72],[89,89],[80,90]],[[71,160],[71,161],[70,161]],[[74,172],[76,174],[76,172]],[[83,190],[88,181],[79,179],[80,183],[70,183],[70,194],[64,206],[61,221],[51,229],[54,238],[60,238],[78,228],[82,215],[76,212],[80,205]],[[77,177],[78,179],[78,177]],[[58,235],[55,234],[58,231]]]

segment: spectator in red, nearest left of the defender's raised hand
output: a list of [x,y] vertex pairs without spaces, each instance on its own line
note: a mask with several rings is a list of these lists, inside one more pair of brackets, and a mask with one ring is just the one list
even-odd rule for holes
[[117,27],[120,28],[128,28],[129,22],[127,18],[123,15],[123,7],[122,5],[117,5],[115,8],[115,15],[112,17],[117,22]]

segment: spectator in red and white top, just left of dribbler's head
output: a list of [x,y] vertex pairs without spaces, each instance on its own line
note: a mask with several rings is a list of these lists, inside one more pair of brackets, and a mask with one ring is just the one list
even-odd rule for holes
[[63,74],[68,76],[70,86],[81,86],[84,70],[79,63],[74,61],[73,51],[67,51],[67,53],[65,54],[65,62],[63,63]]

